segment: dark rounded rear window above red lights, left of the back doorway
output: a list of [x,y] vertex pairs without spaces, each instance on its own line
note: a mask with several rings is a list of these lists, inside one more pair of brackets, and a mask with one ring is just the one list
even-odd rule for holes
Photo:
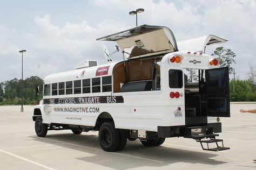
[[169,70],[169,87],[182,88],[183,87],[183,73],[181,70]]

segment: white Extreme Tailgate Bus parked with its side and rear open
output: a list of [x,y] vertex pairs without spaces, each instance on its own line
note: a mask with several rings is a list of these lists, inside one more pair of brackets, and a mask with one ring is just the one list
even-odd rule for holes
[[[100,66],[87,60],[46,76],[43,100],[33,111],[37,136],[99,131],[105,151],[123,150],[127,139],[158,146],[169,137],[196,139],[204,150],[229,149],[215,138],[220,117],[230,117],[228,69],[219,68],[219,58],[178,51],[164,26],[142,25],[97,40],[116,41],[123,60]],[[187,81],[186,69],[197,71],[198,82]]]

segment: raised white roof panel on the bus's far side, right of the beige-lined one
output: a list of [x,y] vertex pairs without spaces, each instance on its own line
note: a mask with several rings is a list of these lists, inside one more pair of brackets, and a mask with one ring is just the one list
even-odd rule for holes
[[197,51],[197,52],[205,52],[205,47],[208,45],[220,44],[227,42],[228,40],[208,35],[204,37],[184,40],[177,42],[179,47],[179,51]]

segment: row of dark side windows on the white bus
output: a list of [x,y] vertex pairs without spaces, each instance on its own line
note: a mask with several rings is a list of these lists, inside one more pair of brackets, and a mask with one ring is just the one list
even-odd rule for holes
[[[102,82],[101,82],[102,80]],[[52,84],[44,84],[44,96],[54,95],[70,95],[85,93],[100,93],[100,85],[102,84],[102,92],[112,91],[112,77],[105,76],[92,79],[74,80],[66,82],[58,82]],[[50,93],[51,89],[51,93]]]

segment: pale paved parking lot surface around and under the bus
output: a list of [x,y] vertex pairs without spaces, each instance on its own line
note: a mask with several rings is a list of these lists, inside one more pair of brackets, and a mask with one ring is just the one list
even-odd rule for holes
[[97,132],[49,131],[38,138],[33,107],[20,108],[0,106],[0,169],[256,169],[256,114],[239,112],[255,109],[255,103],[231,104],[231,118],[221,118],[218,137],[231,149],[219,152],[203,151],[186,138],[167,138],[156,147],[127,141],[119,152],[103,151]]

